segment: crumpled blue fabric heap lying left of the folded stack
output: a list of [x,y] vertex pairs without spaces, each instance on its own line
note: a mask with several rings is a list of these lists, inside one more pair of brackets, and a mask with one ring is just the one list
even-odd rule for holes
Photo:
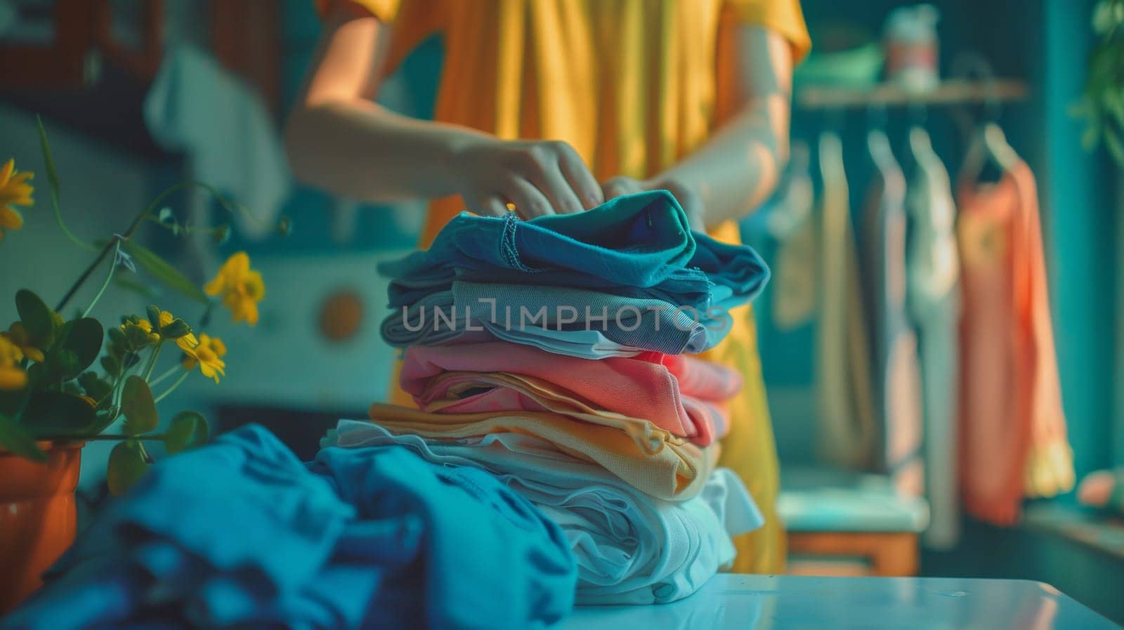
[[[246,427],[161,460],[0,628],[516,629],[570,610],[569,546],[520,496],[402,448],[341,450],[306,466]],[[491,597],[510,605],[466,610]]]

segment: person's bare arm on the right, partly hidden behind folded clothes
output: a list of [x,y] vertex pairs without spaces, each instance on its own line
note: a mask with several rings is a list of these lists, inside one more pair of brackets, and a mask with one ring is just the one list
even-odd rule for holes
[[769,197],[788,159],[791,48],[779,34],[758,26],[737,27],[732,36],[735,84],[726,93],[735,102],[720,104],[735,113],[698,150],[663,173],[645,181],[604,182],[607,198],[668,189],[698,229],[740,219]]

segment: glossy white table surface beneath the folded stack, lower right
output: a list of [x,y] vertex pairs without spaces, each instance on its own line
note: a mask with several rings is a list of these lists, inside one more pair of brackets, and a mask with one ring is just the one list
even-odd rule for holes
[[720,574],[670,604],[579,608],[553,630],[1115,630],[1040,582]]

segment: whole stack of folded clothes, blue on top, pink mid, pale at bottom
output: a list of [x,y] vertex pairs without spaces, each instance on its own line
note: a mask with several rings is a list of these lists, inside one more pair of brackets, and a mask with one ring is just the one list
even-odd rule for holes
[[683,353],[720,341],[769,272],[692,234],[670,193],[528,221],[462,213],[381,271],[383,337],[406,349],[417,408],[377,403],[374,424],[343,421],[326,446],[493,474],[561,527],[578,603],[685,597],[762,524],[715,469],[741,376]]

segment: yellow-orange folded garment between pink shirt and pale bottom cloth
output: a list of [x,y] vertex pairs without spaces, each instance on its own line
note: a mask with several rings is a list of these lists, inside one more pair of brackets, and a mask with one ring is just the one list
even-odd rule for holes
[[371,419],[393,433],[457,439],[489,433],[523,433],[553,444],[573,457],[604,466],[658,499],[681,501],[699,493],[718,459],[717,445],[705,448],[676,438],[659,453],[647,454],[624,431],[581,422],[556,413],[430,413],[374,403]]

